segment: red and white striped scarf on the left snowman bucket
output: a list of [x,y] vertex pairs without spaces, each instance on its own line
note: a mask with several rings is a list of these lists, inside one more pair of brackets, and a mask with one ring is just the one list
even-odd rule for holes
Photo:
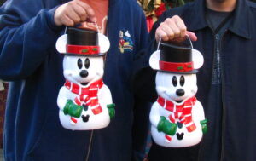
[[90,106],[91,111],[96,115],[102,112],[102,106],[100,106],[98,101],[98,90],[103,86],[102,79],[91,83],[89,87],[82,88],[76,83],[71,83],[66,80],[65,86],[72,93],[77,94],[75,98],[75,103],[79,106],[85,103],[86,106]]

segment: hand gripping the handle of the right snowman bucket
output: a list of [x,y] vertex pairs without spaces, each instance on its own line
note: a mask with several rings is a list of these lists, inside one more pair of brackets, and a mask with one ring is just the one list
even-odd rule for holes
[[167,18],[164,22],[160,23],[155,32],[155,39],[157,42],[160,41],[160,38],[163,41],[182,42],[186,35],[192,41],[197,40],[195,33],[187,31],[183,20],[178,15],[174,15],[172,18]]

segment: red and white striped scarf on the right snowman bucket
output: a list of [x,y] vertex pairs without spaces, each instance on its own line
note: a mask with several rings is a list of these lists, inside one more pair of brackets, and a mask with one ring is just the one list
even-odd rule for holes
[[167,101],[162,97],[158,97],[157,102],[165,108],[166,110],[172,112],[169,115],[169,120],[172,123],[176,123],[175,120],[178,119],[180,123],[184,124],[189,132],[192,132],[196,129],[195,123],[192,120],[192,106],[195,105],[196,98],[195,96],[189,98],[182,105],[175,105],[172,101]]

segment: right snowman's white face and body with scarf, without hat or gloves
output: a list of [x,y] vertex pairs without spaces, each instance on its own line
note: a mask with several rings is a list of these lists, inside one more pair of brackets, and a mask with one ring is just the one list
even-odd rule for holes
[[[200,122],[205,120],[205,116],[201,102],[195,99],[196,75],[159,71],[156,75],[156,90],[159,99],[154,102],[150,112],[154,141],[163,147],[189,147],[198,144],[203,135]],[[183,95],[178,94],[180,91]],[[189,112],[185,112],[185,108]],[[174,135],[158,130],[160,117],[177,124]]]

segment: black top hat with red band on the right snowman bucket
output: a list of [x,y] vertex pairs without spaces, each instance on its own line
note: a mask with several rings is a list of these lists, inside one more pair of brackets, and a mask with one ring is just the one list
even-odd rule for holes
[[160,43],[160,70],[173,73],[196,73],[192,47],[185,43]]

